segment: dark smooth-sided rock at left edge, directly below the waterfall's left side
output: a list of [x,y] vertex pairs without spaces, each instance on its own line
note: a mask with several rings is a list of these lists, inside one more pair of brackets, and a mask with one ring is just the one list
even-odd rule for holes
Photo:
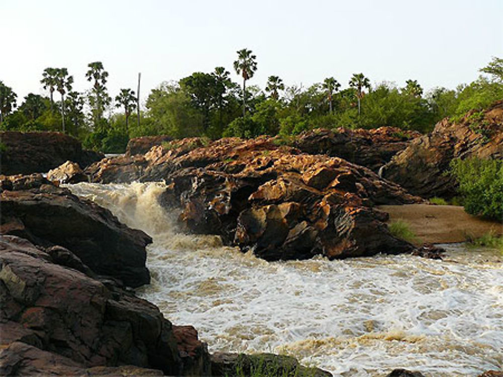
[[151,238],[121,224],[97,204],[56,187],[40,174],[0,176],[0,234],[70,249],[97,274],[138,287],[149,283],[145,246]]

